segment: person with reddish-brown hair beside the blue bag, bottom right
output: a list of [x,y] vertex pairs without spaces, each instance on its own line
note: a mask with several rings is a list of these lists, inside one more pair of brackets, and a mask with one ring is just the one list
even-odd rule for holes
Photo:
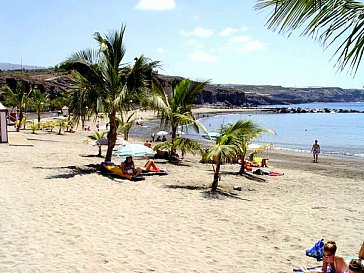
[[334,241],[328,241],[324,244],[322,252],[322,273],[342,273],[348,269],[344,258],[335,255],[336,249],[337,247]]

